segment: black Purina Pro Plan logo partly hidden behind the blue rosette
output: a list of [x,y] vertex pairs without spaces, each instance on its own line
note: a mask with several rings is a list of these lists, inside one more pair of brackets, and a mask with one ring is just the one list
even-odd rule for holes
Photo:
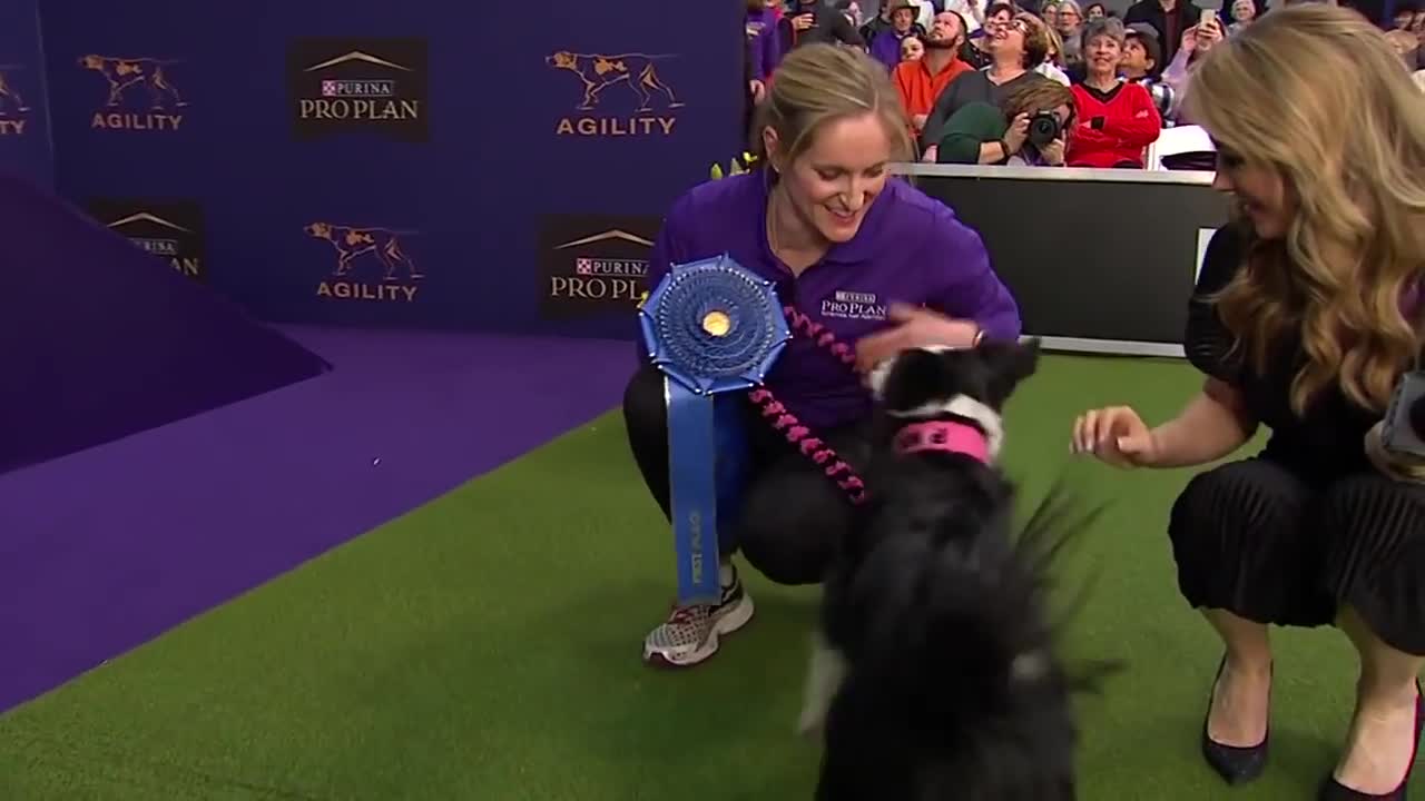
[[544,218],[540,312],[550,319],[627,315],[648,284],[657,217]]

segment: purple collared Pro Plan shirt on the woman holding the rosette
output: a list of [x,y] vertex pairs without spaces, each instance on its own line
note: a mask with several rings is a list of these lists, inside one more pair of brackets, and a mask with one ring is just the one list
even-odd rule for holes
[[[648,285],[657,286],[670,264],[730,254],[775,281],[782,304],[852,346],[892,325],[886,321],[891,304],[973,319],[989,339],[1019,336],[1019,305],[990,268],[979,234],[940,201],[891,178],[855,238],[834,245],[821,262],[794,277],[767,242],[768,191],[768,174],[757,170],[708,181],[678,198],[648,258]],[[854,423],[871,409],[861,376],[804,336],[788,342],[767,385],[814,428]]]

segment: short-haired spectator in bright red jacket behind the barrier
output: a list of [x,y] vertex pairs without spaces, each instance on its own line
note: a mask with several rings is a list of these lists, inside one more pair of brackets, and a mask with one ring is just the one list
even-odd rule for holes
[[1074,84],[1077,128],[1069,140],[1069,167],[1143,168],[1143,151],[1163,133],[1149,90],[1119,77],[1123,23],[1102,17],[1083,31],[1083,83]]

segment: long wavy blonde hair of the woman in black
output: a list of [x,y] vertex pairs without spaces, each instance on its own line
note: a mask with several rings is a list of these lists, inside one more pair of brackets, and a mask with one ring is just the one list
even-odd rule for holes
[[1214,47],[1184,101],[1295,207],[1284,238],[1248,234],[1216,296],[1238,349],[1261,373],[1298,334],[1298,415],[1331,385],[1384,410],[1419,351],[1401,301],[1425,269],[1425,104],[1385,34],[1347,9],[1278,9]]

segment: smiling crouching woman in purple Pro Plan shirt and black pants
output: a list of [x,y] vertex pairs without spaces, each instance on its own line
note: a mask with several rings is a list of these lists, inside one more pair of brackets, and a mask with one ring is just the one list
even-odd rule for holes
[[[775,282],[782,304],[855,346],[856,365],[794,336],[767,388],[855,466],[868,452],[862,373],[908,348],[969,348],[1020,334],[1019,308],[979,234],[942,202],[891,177],[912,154],[885,68],[859,50],[811,44],[788,54],[758,110],[758,170],[698,185],[668,211],[648,282],[673,264],[730,254]],[[663,375],[643,353],[624,392],[628,445],[670,513]],[[849,352],[848,352],[849,356]],[[740,520],[720,526],[722,599],[674,609],[644,640],[644,660],[693,666],[744,626],[752,600],[731,556],[782,584],[818,583],[845,534],[851,500],[748,402],[751,479]],[[871,487],[875,492],[875,487]]]

